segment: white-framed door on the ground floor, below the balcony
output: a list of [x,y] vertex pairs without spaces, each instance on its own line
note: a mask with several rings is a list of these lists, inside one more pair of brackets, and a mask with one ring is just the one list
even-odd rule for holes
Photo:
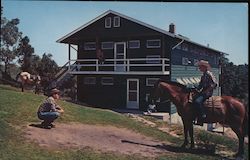
[[127,108],[139,109],[139,79],[127,79]]

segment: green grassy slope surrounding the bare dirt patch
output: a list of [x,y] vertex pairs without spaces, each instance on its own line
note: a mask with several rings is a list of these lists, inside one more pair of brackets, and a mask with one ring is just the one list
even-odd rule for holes
[[[0,85],[0,159],[2,160],[27,160],[27,159],[147,159],[134,155],[120,155],[118,153],[97,153],[91,149],[72,149],[53,151],[39,147],[35,143],[27,142],[23,138],[23,129],[34,122],[40,122],[36,116],[39,104],[45,96],[33,93],[22,93],[15,88]],[[121,115],[109,110],[89,108],[65,101],[59,101],[65,109],[65,114],[60,117],[58,123],[78,122],[84,124],[112,125],[116,127],[128,128],[135,132],[140,132],[146,136],[157,140],[173,143],[174,147],[180,146],[183,139],[170,136],[155,127],[145,126],[125,115]],[[198,132],[196,136],[203,141],[209,140],[210,143],[219,143],[221,150],[235,152],[237,141],[226,137],[211,135],[206,132]],[[248,147],[248,146],[247,146]],[[246,153],[247,153],[246,147]],[[248,157],[248,154],[246,154]],[[157,159],[222,159],[217,153],[211,155],[193,154],[180,152],[178,154],[167,154]]]

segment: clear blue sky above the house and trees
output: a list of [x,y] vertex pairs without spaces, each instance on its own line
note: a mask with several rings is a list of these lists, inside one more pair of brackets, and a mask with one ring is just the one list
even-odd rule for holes
[[4,17],[20,19],[18,28],[35,54],[51,53],[60,66],[68,61],[68,45],[56,41],[107,10],[166,31],[174,23],[177,34],[227,53],[236,65],[248,64],[247,3],[2,0],[1,5]]

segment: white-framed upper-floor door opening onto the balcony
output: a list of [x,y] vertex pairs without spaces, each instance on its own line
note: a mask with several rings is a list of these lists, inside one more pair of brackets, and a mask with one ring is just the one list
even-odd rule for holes
[[116,42],[114,46],[114,58],[115,58],[115,71],[117,72],[125,72],[126,66],[126,42]]

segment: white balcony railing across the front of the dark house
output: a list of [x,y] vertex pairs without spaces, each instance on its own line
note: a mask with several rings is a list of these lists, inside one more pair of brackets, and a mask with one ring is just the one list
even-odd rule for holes
[[71,74],[169,74],[167,58],[76,59],[69,61]]

